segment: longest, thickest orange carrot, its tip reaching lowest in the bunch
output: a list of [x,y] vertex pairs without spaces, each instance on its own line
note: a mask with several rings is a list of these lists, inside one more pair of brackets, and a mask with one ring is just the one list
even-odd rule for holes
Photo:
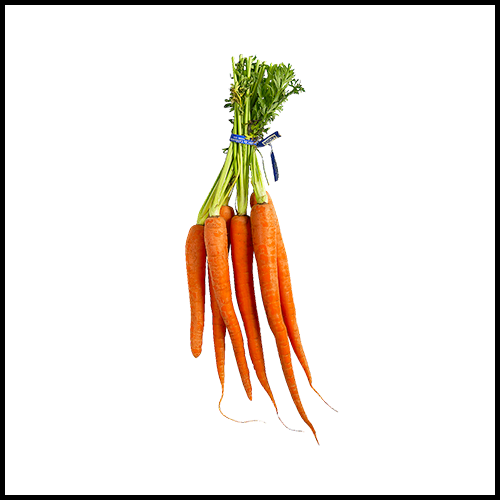
[[264,303],[269,327],[276,341],[281,369],[288,386],[288,391],[290,392],[300,417],[307,424],[316,442],[319,444],[317,432],[302,405],[293,371],[290,342],[288,340],[288,333],[281,311],[278,282],[278,256],[276,248],[276,223],[271,205],[268,203],[254,205],[250,211],[250,221],[262,302]]

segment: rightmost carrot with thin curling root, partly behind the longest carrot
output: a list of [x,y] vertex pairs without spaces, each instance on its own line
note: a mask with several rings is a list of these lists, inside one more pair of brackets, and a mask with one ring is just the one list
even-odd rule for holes
[[[315,389],[312,383],[311,370],[309,368],[309,363],[307,362],[306,353],[304,351],[304,346],[302,345],[302,338],[300,336],[299,325],[297,322],[297,311],[295,308],[295,301],[293,299],[293,289],[292,289],[292,278],[290,275],[290,265],[288,262],[288,256],[285,248],[285,241],[283,239],[283,233],[281,232],[281,227],[278,219],[278,214],[276,212],[276,207],[274,206],[273,200],[269,192],[267,192],[267,199],[269,205],[271,205],[273,214],[276,222],[276,232],[277,232],[277,251],[278,251],[278,280],[280,287],[280,300],[281,300],[281,310],[283,313],[283,319],[285,320],[285,325],[288,331],[288,338],[292,344],[293,352],[297,356],[297,360],[300,366],[304,370],[304,373],[309,382],[311,389],[323,400],[323,402],[329,406],[332,410],[335,410],[333,406],[328,404],[323,398],[323,396]],[[255,204],[255,194],[252,193],[250,197],[250,204],[253,206]],[[337,413],[338,411],[335,410]]]

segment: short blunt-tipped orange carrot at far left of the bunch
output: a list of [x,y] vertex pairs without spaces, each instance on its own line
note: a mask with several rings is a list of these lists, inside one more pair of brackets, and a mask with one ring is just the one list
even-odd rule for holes
[[205,327],[205,272],[206,254],[203,237],[204,227],[190,227],[186,238],[186,276],[189,293],[191,353],[195,358],[201,354],[203,329]]

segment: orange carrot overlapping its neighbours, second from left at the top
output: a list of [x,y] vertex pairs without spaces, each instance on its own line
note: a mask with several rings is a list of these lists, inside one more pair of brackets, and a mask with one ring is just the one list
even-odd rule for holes
[[205,247],[214,297],[229,332],[243,388],[247,398],[252,401],[252,383],[245,356],[243,333],[233,305],[229,275],[227,228],[223,217],[208,217],[205,221]]

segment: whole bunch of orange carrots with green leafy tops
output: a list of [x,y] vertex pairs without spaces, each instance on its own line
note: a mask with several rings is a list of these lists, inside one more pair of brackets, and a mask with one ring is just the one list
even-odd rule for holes
[[[253,278],[255,258],[262,302],[274,335],[288,390],[300,417],[319,444],[316,430],[300,399],[290,344],[309,385],[323,401],[325,400],[312,384],[311,370],[297,324],[285,243],[275,206],[264,183],[255,145],[279,116],[288,97],[300,94],[303,87],[295,80],[291,65],[267,64],[267,61],[261,61],[256,56],[240,56],[238,62],[233,57],[231,63],[233,82],[228,106],[234,113],[233,134],[244,137],[246,142],[231,140],[224,165],[198,213],[196,224],[191,226],[187,235],[185,250],[191,353],[198,358],[202,351],[208,262],[215,363],[221,385],[219,411],[234,422],[263,422],[258,419],[236,420],[225,415],[221,409],[225,386],[226,329],[243,388],[248,399],[253,399],[243,332],[233,302],[230,277],[232,265],[237,306],[255,374],[281,423],[287,429],[295,431],[281,420],[266,374]],[[251,144],[252,142],[254,144]],[[250,184],[253,193],[249,200]],[[236,213],[234,208],[229,206],[234,188],[237,190]],[[325,403],[330,406],[326,401]],[[331,406],[330,408],[335,410]]]

